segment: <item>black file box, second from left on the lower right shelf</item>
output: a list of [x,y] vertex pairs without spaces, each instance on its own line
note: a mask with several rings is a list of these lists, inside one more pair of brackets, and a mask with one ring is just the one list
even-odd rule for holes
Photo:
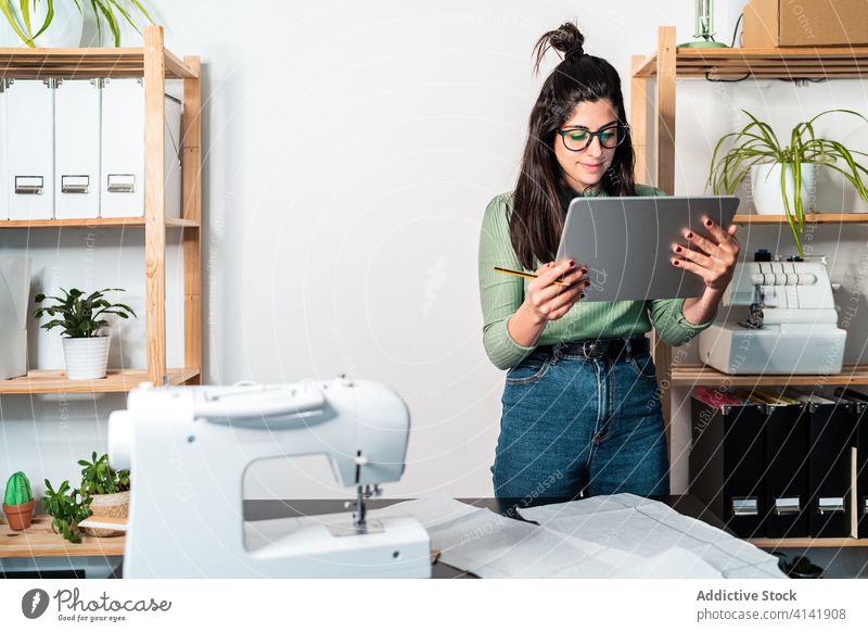
[[808,424],[807,405],[766,406],[765,534],[804,538],[808,534]]

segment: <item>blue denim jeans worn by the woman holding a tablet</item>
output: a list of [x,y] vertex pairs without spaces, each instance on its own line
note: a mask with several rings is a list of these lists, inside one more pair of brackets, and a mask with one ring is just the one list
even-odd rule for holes
[[558,343],[507,372],[495,496],[579,497],[669,493],[654,363],[570,355]]

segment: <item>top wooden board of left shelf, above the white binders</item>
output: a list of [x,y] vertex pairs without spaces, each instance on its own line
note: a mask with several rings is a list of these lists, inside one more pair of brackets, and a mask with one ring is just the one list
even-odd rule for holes
[[[199,72],[164,51],[166,77],[197,78]],[[0,77],[9,79],[143,77],[144,49],[0,48]]]

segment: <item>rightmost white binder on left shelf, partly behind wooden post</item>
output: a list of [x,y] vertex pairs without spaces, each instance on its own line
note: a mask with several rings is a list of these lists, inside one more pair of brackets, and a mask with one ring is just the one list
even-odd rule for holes
[[[181,103],[166,94],[165,213],[181,216]],[[144,89],[141,79],[105,79],[102,87],[100,215],[144,215]]]

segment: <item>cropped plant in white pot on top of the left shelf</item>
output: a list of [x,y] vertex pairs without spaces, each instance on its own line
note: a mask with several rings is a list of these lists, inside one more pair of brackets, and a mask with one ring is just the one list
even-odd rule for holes
[[120,46],[124,23],[139,31],[132,20],[133,12],[141,13],[153,24],[139,0],[0,0],[0,13],[5,17],[0,20],[0,46],[80,46],[85,25],[82,2],[93,11],[99,40],[102,41],[102,29],[106,28],[116,47]]

